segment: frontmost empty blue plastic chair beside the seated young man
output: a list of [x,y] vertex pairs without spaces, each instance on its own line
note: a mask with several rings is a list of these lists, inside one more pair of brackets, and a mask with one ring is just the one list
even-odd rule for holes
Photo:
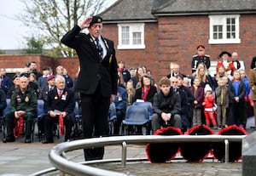
[[148,129],[148,109],[143,105],[130,105],[125,113],[125,120],[122,122],[125,135],[128,134],[128,126],[142,126]]

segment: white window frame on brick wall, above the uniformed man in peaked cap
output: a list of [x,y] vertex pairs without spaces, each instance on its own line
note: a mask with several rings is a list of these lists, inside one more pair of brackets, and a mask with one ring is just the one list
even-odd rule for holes
[[[228,18],[235,18],[235,38],[227,38],[227,24],[226,20]],[[239,18],[240,14],[221,14],[221,15],[209,15],[210,19],[210,39],[209,44],[225,44],[225,43],[241,43],[239,36]],[[213,26],[222,26],[223,27],[223,38],[222,39],[213,39]]]

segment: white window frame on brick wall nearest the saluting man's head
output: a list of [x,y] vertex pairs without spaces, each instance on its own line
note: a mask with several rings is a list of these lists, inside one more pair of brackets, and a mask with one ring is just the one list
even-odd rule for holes
[[[129,44],[122,43],[122,27],[129,27]],[[124,23],[118,24],[119,28],[119,44],[117,46],[118,49],[143,49],[145,47],[144,43],[144,23]],[[141,43],[140,44],[133,44],[132,34],[133,32],[141,32]]]

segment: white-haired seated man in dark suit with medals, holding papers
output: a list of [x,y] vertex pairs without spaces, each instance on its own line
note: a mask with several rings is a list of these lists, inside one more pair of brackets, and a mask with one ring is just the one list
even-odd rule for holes
[[65,88],[65,78],[60,75],[55,77],[55,86],[54,89],[49,91],[45,101],[47,115],[44,116],[44,134],[46,139],[43,144],[54,142],[52,133],[54,122],[59,122],[60,131],[64,129],[64,124],[66,125],[65,141],[70,139],[70,133],[75,122],[73,90]]

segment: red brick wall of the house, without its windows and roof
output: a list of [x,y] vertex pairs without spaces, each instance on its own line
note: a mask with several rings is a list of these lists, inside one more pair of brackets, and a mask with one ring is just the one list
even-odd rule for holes
[[[226,50],[236,51],[240,60],[244,61],[246,72],[249,73],[250,63],[256,55],[256,14],[241,14],[239,44],[208,44],[209,18],[208,15],[160,16],[158,23],[146,23],[146,49],[117,50],[117,59],[125,60],[126,67],[146,65],[153,72],[156,81],[169,74],[170,62],[181,65],[181,71],[191,73],[191,59],[196,54],[196,47],[202,44],[206,54],[212,61],[218,61],[218,54]],[[113,39],[118,44],[118,26],[104,24],[105,37]],[[108,32],[106,32],[108,31]]]

